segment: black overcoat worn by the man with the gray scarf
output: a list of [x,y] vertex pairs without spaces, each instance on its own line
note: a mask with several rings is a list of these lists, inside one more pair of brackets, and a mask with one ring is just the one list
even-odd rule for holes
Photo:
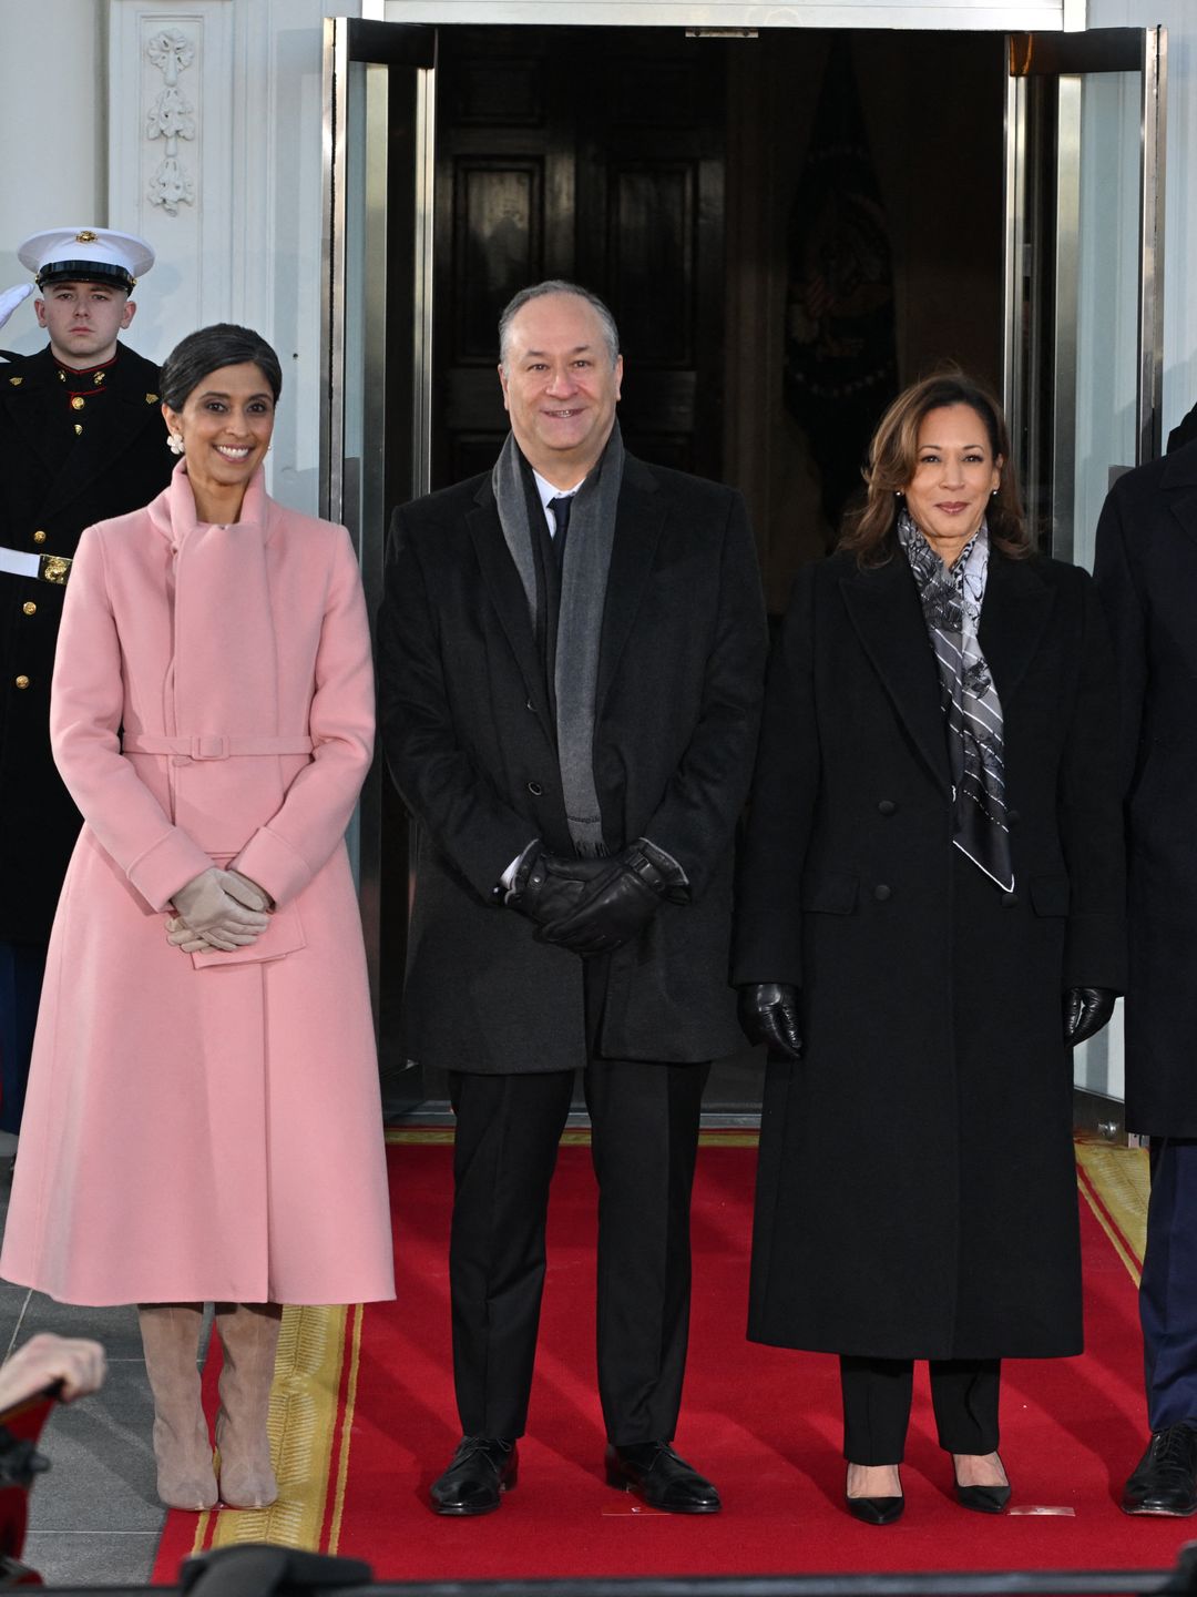
[[[528,605],[490,478],[396,511],[378,618],[386,757],[420,821],[409,1049],[482,1073],[586,1062],[583,961],[533,941],[493,888],[535,837],[568,854]],[[685,869],[611,957],[598,1052],[699,1062],[742,1046],[728,985],[733,832],[764,674],[752,535],[729,489],[624,465],[603,610],[595,786],[608,850],[650,837]]]

